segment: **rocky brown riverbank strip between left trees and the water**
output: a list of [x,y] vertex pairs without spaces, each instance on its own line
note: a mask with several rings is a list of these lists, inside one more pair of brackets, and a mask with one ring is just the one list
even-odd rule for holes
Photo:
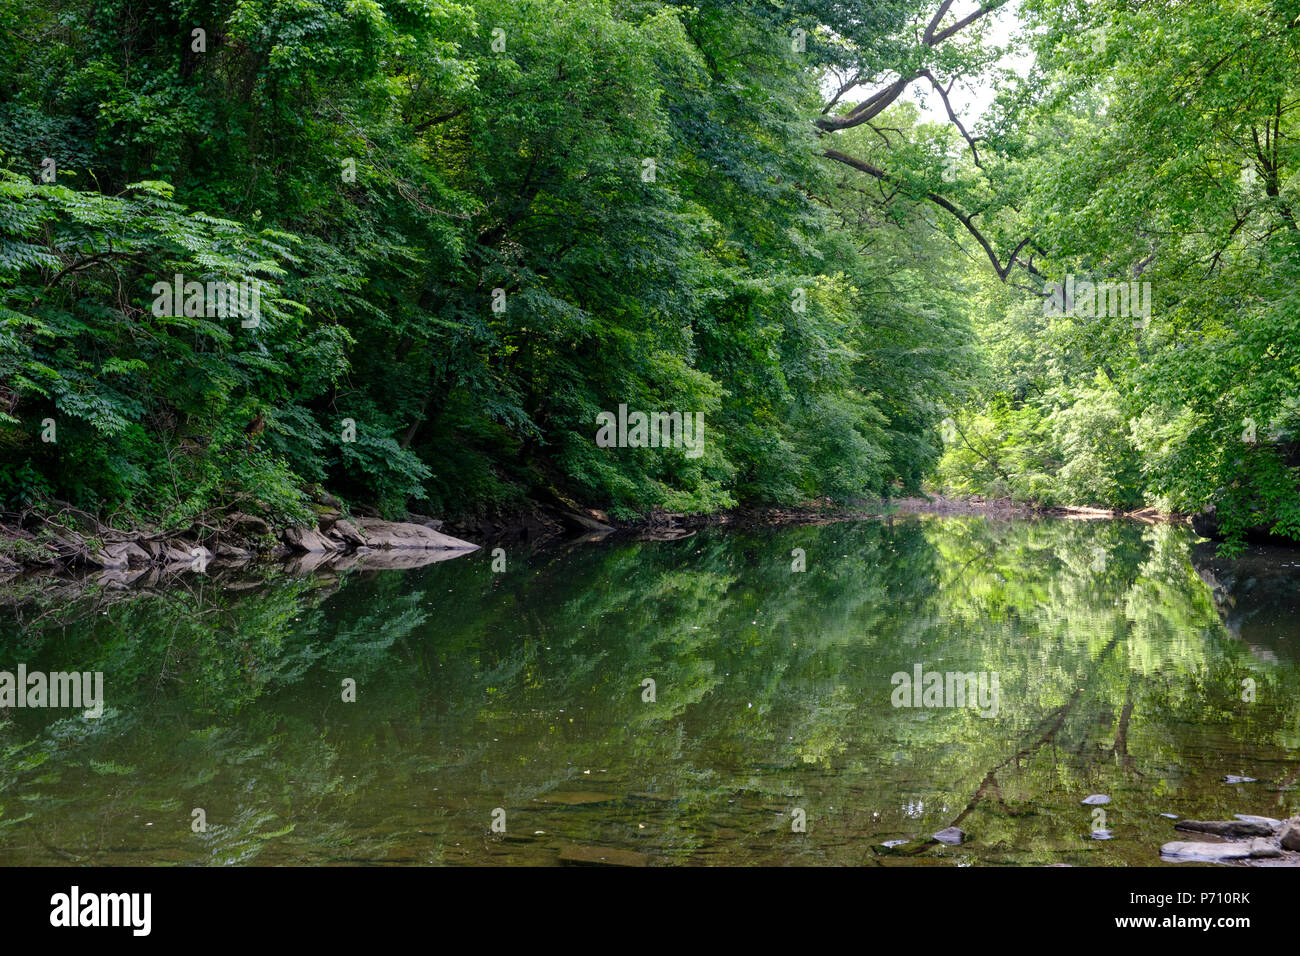
[[616,520],[602,510],[556,499],[494,516],[442,520],[410,514],[404,522],[390,522],[373,514],[344,514],[342,502],[317,492],[312,510],[316,514],[313,525],[273,527],[263,518],[231,511],[195,523],[183,532],[156,527],[117,528],[70,505],[49,514],[0,515],[0,576],[185,572],[203,571],[209,564],[230,567],[252,562],[280,562],[286,570],[298,572],[326,566],[342,570],[356,563],[376,568],[416,567],[477,550],[489,542],[537,546],[606,536],[672,540],[714,525],[824,524],[900,514],[1186,520],[1182,515],[1166,515],[1154,509],[1126,514],[1091,507],[1039,507],[978,496],[889,498],[849,506],[822,499],[802,506],[738,507],[711,514],[651,512],[633,520]]

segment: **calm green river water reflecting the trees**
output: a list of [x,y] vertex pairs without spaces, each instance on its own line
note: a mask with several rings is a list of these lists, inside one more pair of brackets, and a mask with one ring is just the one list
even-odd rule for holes
[[[0,864],[1158,864],[1161,813],[1300,809],[1300,624],[1230,633],[1191,546],[913,516],[507,549],[503,574],[485,549],[0,585],[0,670],[103,671],[107,698],[0,711]],[[996,674],[997,715],[893,706],[916,665]],[[963,845],[875,848],[954,821]]]

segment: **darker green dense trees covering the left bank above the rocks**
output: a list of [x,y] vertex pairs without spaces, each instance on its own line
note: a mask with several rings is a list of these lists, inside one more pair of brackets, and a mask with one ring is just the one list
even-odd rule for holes
[[[5,0],[0,507],[919,486],[968,364],[961,298],[927,289],[958,252],[916,209],[863,222],[810,122],[819,23],[901,16]],[[177,274],[260,278],[259,321],[159,316]],[[703,454],[599,447],[620,405],[701,412]]]

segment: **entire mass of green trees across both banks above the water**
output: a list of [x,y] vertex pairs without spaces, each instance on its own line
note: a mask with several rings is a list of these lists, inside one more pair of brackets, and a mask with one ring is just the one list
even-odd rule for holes
[[[292,519],[318,483],[627,516],[931,476],[1300,535],[1297,18],[3,0],[0,509]],[[257,278],[263,313],[160,313],[173,276]],[[1076,282],[1150,311],[1053,311]],[[701,415],[699,453],[602,446],[620,407]]]

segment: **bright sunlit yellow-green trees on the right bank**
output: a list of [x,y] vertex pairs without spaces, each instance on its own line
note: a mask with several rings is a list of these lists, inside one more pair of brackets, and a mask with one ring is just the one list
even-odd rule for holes
[[[1022,7],[1035,68],[982,131],[1039,256],[976,307],[958,490],[1196,511],[1300,536],[1300,4]],[[966,172],[982,172],[970,170]],[[974,177],[972,177],[974,178]],[[1053,310],[1069,276],[1150,313]],[[1048,285],[1044,285],[1048,284]],[[1097,312],[1097,315],[1093,315]]]

